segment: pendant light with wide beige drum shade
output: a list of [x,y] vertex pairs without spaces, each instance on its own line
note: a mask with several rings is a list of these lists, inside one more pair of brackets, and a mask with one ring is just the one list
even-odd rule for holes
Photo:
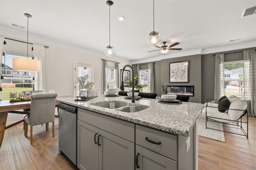
[[[27,18],[31,18],[30,14],[24,14]],[[40,61],[36,59],[28,59],[28,30],[27,30],[27,58],[13,58],[12,69],[14,71],[39,72]]]

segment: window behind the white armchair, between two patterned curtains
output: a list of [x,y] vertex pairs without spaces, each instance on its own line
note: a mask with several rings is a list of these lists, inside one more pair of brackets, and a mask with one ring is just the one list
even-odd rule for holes
[[244,61],[224,62],[225,95],[244,98]]

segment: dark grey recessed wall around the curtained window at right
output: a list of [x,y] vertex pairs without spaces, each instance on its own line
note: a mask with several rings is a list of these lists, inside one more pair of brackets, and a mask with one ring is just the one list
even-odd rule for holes
[[[224,62],[239,61],[244,60],[242,51],[248,49],[255,49],[255,47],[218,53],[224,53]],[[213,54],[202,55],[202,103],[205,103],[207,99],[214,99],[215,57],[212,56]]]

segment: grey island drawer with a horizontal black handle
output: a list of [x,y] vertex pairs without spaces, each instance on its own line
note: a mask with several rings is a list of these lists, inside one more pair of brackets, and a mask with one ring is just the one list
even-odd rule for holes
[[177,160],[177,136],[136,125],[136,144]]

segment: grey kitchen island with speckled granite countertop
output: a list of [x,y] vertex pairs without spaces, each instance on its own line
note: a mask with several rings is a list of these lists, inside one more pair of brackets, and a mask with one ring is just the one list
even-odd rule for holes
[[[157,99],[131,103],[122,96],[104,95],[85,102],[74,99],[58,98],[58,101],[78,107],[78,168],[197,168],[196,120],[201,103],[167,105]],[[129,113],[97,106],[102,103],[122,103],[144,110]]]

